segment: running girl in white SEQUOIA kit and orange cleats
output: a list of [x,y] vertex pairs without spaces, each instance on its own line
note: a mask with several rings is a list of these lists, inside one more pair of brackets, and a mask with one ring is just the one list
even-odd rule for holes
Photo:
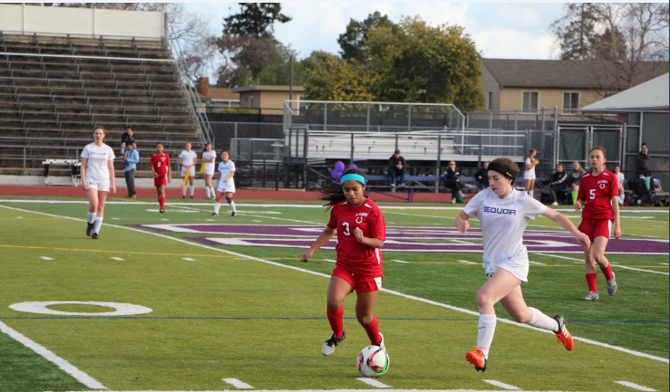
[[589,245],[587,235],[580,233],[566,216],[543,206],[528,193],[519,192],[512,187],[519,171],[514,162],[507,158],[498,158],[489,164],[488,169],[490,188],[472,197],[455,220],[455,225],[462,234],[470,227],[468,219],[472,216],[476,216],[481,223],[483,268],[488,281],[477,294],[480,311],[477,346],[465,358],[475,369],[482,372],[486,370],[490,344],[496,328],[493,305],[499,301],[517,322],[552,330],[568,351],[574,346],[562,315],[557,314],[550,318],[537,309],[529,308],[523,300],[521,284],[528,282],[529,260],[522,236],[529,219],[534,220],[543,215],[568,230],[575,236],[578,244],[586,247]]

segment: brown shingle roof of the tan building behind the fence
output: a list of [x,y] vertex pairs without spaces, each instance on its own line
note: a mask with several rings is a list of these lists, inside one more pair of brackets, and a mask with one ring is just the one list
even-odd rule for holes
[[501,87],[625,90],[668,72],[668,62],[507,59],[482,62]]

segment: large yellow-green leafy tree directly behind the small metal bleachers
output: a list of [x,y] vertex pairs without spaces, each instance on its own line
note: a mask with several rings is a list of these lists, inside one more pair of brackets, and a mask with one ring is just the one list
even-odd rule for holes
[[461,111],[483,106],[481,54],[461,26],[403,17],[397,29],[375,29],[367,44],[377,100],[452,103]]

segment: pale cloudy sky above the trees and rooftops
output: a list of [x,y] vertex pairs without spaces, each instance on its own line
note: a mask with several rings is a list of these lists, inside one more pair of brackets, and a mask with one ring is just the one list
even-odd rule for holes
[[[234,3],[189,3],[189,10],[209,17],[212,33],[221,34],[223,18],[239,11]],[[465,27],[484,58],[558,59],[549,26],[563,14],[560,3],[282,3],[293,17],[275,25],[275,38],[305,58],[316,50],[339,53],[337,38],[351,19],[364,20],[379,11],[398,23],[420,16],[430,24]]]

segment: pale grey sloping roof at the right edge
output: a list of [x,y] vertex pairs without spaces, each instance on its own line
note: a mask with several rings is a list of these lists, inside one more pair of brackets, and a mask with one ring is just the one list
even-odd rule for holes
[[667,110],[670,106],[669,83],[670,73],[665,73],[605,100],[598,100],[584,110]]

